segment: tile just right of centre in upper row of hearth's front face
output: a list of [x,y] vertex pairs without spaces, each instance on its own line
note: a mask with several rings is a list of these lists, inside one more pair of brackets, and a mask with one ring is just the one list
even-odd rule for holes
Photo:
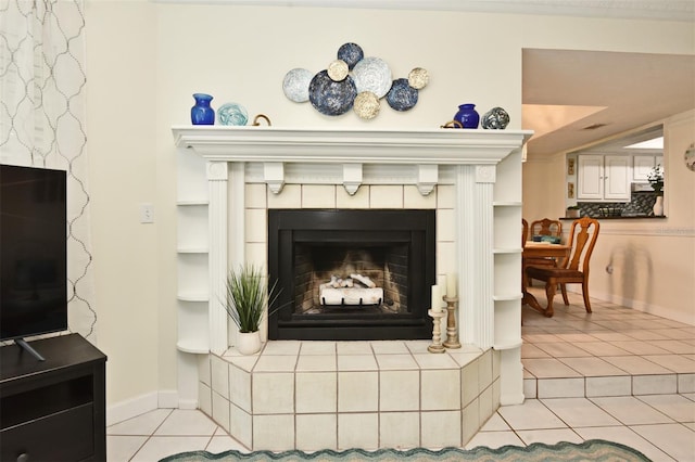
[[420,409],[419,371],[381,371],[379,410],[417,411]]

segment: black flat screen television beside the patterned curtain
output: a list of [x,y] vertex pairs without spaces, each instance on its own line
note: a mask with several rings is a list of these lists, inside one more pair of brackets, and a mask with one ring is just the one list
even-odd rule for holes
[[67,330],[67,174],[0,165],[0,341]]

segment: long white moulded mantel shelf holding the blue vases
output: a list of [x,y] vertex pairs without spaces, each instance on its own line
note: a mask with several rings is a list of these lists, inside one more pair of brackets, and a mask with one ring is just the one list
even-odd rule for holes
[[531,131],[365,130],[267,126],[173,127],[176,145],[207,161],[342,164],[497,164]]

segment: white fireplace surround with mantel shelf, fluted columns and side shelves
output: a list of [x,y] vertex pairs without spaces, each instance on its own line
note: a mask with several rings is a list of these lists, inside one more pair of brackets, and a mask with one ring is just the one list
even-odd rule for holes
[[[179,206],[204,204],[207,230],[205,294],[181,294],[179,300],[206,303],[203,312],[181,308],[179,350],[220,355],[229,346],[227,313],[219,297],[228,268],[244,262],[244,184],[265,182],[279,194],[286,181],[342,184],[354,194],[361,184],[415,184],[428,195],[437,184],[455,185],[452,258],[458,272],[459,330],[464,343],[502,351],[502,401],[522,400],[520,361],[521,300],[521,147],[525,130],[483,129],[309,129],[267,126],[177,126],[172,128],[181,152],[205,161],[205,172],[179,168],[184,183],[207,182],[207,196],[181,197]],[[190,154],[187,154],[190,155]],[[442,176],[445,175],[445,181]],[[195,188],[200,191],[200,188]],[[182,211],[187,216],[186,211]],[[235,223],[229,226],[230,219]],[[179,230],[186,235],[186,230]],[[200,234],[197,231],[197,235]],[[185,268],[188,248],[180,248]],[[200,252],[194,249],[193,253]],[[186,287],[188,288],[188,287]],[[195,288],[195,291],[199,291]],[[181,315],[182,313],[182,315]],[[187,371],[192,370],[188,361]]]

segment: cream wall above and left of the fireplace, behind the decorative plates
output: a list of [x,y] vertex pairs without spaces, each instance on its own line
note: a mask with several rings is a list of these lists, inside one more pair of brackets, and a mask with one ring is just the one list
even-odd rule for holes
[[[439,127],[472,102],[481,113],[505,107],[518,129],[525,47],[695,53],[683,23],[144,0],[87,0],[86,14],[99,346],[112,408],[177,387],[170,127],[190,123],[191,93],[213,94],[213,106],[239,102],[276,126]],[[320,70],[348,41],[384,59],[394,77],[427,68],[417,106],[397,113],[383,102],[364,121],[285,98],[289,69]],[[154,203],[156,223],[139,223],[141,202]]]

